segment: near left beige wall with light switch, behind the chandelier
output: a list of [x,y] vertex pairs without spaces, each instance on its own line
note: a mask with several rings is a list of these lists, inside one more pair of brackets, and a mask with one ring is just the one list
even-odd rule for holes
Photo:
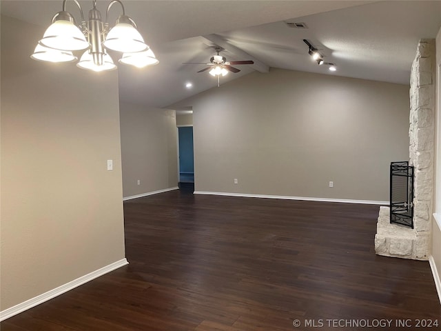
[[1,310],[125,257],[117,74],[30,59],[43,32],[1,17]]

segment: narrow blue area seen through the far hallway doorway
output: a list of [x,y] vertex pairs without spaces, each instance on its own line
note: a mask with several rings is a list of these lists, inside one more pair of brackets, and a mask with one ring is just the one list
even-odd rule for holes
[[179,182],[194,183],[193,127],[178,128]]

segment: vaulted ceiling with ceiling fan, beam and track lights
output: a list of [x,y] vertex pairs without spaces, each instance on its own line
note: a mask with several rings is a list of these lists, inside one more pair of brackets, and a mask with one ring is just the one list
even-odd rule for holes
[[[85,14],[92,8],[92,1],[79,2]],[[98,9],[105,13],[109,2],[98,1]],[[2,0],[1,14],[48,26],[61,3]],[[217,86],[207,72],[197,73],[203,65],[183,64],[209,61],[215,45],[225,48],[221,54],[228,61],[255,61],[238,66],[241,71],[222,77],[221,84],[254,70],[265,74],[269,68],[407,84],[418,40],[435,38],[441,26],[441,1],[123,3],[160,63],[143,70],[119,65],[120,99],[161,108]],[[79,17],[73,1],[68,1],[68,10]],[[112,9],[111,19],[118,14]],[[287,22],[305,23],[307,28],[290,28]],[[302,39],[338,70],[329,72],[311,61]],[[29,46],[30,54],[33,48]],[[112,55],[116,60],[118,54]],[[185,87],[187,82],[192,88]]]

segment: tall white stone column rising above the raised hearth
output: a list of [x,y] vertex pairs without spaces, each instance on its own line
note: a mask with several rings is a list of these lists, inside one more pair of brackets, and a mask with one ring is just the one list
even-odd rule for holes
[[416,258],[429,259],[435,141],[435,40],[421,39],[411,69],[410,165],[415,167]]

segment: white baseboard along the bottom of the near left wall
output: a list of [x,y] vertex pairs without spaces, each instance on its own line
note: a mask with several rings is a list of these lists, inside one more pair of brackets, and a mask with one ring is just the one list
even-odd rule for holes
[[2,310],[0,312],[0,321],[4,321],[5,319],[9,319],[10,317],[17,315],[21,312],[24,312],[25,310],[28,310],[32,307],[35,307],[36,305],[39,305],[40,303],[43,303],[45,301],[49,301],[50,299],[54,297],[58,297],[60,294],[63,294],[65,292],[68,292],[74,288],[77,288],[80,285],[83,285],[84,283],[88,283],[88,281],[92,281],[92,279],[96,279],[100,276],[103,276],[103,274],[107,274],[107,272],[111,272],[115,269],[121,268],[123,265],[129,264],[127,262],[127,259],[121,259],[119,261],[116,261],[114,263],[111,263],[109,265],[106,265],[105,267],[95,270],[93,272],[90,272],[90,274],[85,274],[84,276],[81,276],[77,279],[74,279],[73,281],[70,281],[69,283],[65,283],[64,285],[59,286],[58,288],[54,288],[53,290],[50,290],[48,292],[45,292],[43,294],[37,295],[37,297],[34,297],[32,299],[26,300],[22,303],[19,303],[18,305],[14,305],[11,308],[8,308],[6,310]]

